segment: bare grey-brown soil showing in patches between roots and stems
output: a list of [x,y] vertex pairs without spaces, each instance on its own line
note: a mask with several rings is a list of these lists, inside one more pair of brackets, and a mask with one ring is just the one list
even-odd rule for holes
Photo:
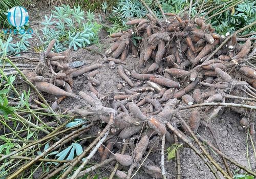
[[[36,12],[36,9],[30,9],[30,25],[34,29],[38,29],[38,22],[40,20],[44,19],[44,15],[48,15],[50,13],[50,10],[44,10],[39,11],[39,15]],[[39,25],[40,28],[40,25]],[[102,56],[99,53],[104,53],[104,51],[110,47],[110,42],[107,37],[107,33],[102,30],[99,34],[100,36],[100,44],[93,44],[92,46],[89,46],[87,49],[79,49],[77,51],[72,51],[69,61],[84,61],[85,65],[91,65],[95,63],[102,63],[104,62]],[[34,44],[36,44],[36,40],[34,39]],[[142,69],[138,69],[138,58],[134,58],[131,55],[129,55],[126,59],[126,64],[123,65],[124,68],[131,71],[135,69],[137,72],[140,72]],[[96,75],[96,79],[98,79],[101,84],[97,87],[99,93],[101,95],[109,96],[113,93],[117,94],[119,91],[117,89],[118,83],[123,83],[123,79],[120,78],[117,72],[117,68],[114,70],[110,70],[108,68],[108,63],[104,63],[102,68],[97,69],[100,73]],[[135,80],[133,80],[135,82]],[[78,95],[80,91],[88,92],[88,80],[86,77],[86,74],[79,76],[74,79],[74,87],[73,87],[73,93]],[[129,89],[129,85],[125,85],[126,89]],[[123,90],[123,89],[122,89]],[[50,96],[47,94],[44,94],[46,99],[52,103],[55,100],[54,96]],[[85,107],[85,104],[78,99],[75,98],[67,98],[64,101],[62,101],[59,105],[59,112],[63,112],[64,109],[80,106],[81,108]],[[104,101],[104,105],[109,105],[108,101]],[[207,118],[204,118],[205,122],[212,128],[214,131],[214,135],[217,139],[218,145],[223,153],[230,156],[230,158],[236,160],[238,163],[249,167],[252,170],[256,169],[256,161],[255,157],[253,156],[253,149],[250,143],[250,140],[248,139],[248,146],[247,146],[247,135],[245,130],[241,129],[239,121],[242,118],[240,114],[232,111],[230,108],[225,107],[222,109],[223,113],[219,114],[218,117],[211,119],[210,121],[207,121]],[[187,110],[187,113],[190,111]],[[187,120],[187,116],[184,116],[184,118]],[[97,135],[98,130],[100,129],[101,124],[98,126],[95,126],[93,129],[91,129],[90,133],[91,135]],[[198,134],[205,139],[208,139],[212,143],[215,144],[211,133],[209,130],[204,126],[201,126],[198,130]],[[89,134],[87,134],[89,135]],[[255,136],[254,136],[255,137]],[[155,138],[155,137],[154,137]],[[152,140],[154,140],[154,138]],[[90,141],[89,141],[90,142]],[[84,145],[86,145],[85,143]],[[159,143],[159,146],[156,147],[155,150],[152,151],[152,153],[148,156],[148,159],[145,161],[144,165],[151,163],[156,166],[160,167],[160,160],[161,160],[161,150],[160,150],[161,142]],[[216,144],[215,144],[216,145]],[[166,143],[166,148],[169,147],[170,144]],[[207,148],[207,146],[205,145]],[[209,148],[208,148],[209,149]],[[129,151],[130,149],[128,149]],[[148,151],[148,150],[147,150]],[[184,146],[180,149],[181,152],[181,174],[182,178],[214,178],[214,175],[209,171],[207,166],[203,163],[203,161],[195,154],[194,151],[189,149],[188,147]],[[223,161],[221,158],[219,158],[215,153],[209,149],[209,152],[216,156],[216,160],[219,164],[221,164],[222,167]],[[248,156],[247,156],[248,153]],[[167,157],[167,156],[166,156]],[[249,160],[249,161],[248,161]],[[99,155],[96,154],[91,162],[98,163],[100,161]],[[165,160],[167,161],[167,159]],[[176,177],[176,162],[175,160],[171,160],[165,163],[166,167],[166,173],[167,178],[175,178]],[[232,172],[236,171],[236,167],[233,165],[229,166]],[[143,168],[143,167],[142,167]],[[123,171],[127,171],[127,167],[123,168]],[[241,171],[236,171],[236,173],[240,173]],[[93,173],[100,173],[99,178],[102,178],[104,176],[109,176],[111,173],[111,169],[108,170],[108,167],[103,167],[98,170],[96,170]],[[143,169],[139,170],[137,172],[137,175],[135,178],[152,178],[149,175],[147,175]]]

